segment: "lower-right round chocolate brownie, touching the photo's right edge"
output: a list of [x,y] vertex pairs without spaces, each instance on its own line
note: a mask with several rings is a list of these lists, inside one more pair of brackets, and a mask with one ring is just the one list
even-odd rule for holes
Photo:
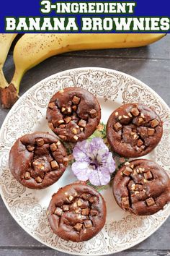
[[170,179],[153,161],[125,163],[113,180],[113,195],[123,210],[145,216],[157,213],[170,201]]

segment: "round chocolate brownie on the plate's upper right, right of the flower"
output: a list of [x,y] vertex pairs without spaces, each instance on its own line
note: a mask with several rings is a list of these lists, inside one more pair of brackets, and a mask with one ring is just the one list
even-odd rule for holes
[[107,121],[107,140],[112,150],[125,157],[148,154],[158,145],[162,133],[159,116],[141,103],[120,106]]

